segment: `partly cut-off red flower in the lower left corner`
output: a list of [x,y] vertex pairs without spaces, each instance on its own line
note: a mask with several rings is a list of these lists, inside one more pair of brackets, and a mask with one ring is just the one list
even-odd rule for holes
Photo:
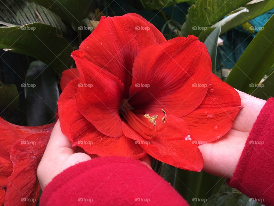
[[40,194],[36,170],[53,125],[17,126],[0,118],[0,205],[35,205]]

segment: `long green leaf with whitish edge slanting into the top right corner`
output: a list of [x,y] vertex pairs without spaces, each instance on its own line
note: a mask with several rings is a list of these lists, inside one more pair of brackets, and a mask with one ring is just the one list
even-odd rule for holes
[[[230,29],[233,29],[234,27],[237,27],[245,23],[246,21],[253,19],[273,8],[274,8],[273,0],[265,0],[265,1],[260,1],[253,4],[246,4],[243,8],[239,9],[239,11],[228,15],[227,17],[215,23],[211,27],[215,28],[217,26],[221,26],[222,27],[221,34],[223,34],[229,31]],[[252,30],[252,28],[249,30]],[[210,30],[208,28],[206,30],[203,30],[199,35],[199,39],[203,39],[200,36],[208,35],[209,33],[210,33]]]

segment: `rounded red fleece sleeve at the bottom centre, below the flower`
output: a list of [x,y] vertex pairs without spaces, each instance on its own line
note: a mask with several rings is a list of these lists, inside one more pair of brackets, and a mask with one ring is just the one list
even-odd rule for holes
[[40,206],[46,205],[187,206],[188,203],[140,161],[101,157],[69,167],[57,175],[42,193]]

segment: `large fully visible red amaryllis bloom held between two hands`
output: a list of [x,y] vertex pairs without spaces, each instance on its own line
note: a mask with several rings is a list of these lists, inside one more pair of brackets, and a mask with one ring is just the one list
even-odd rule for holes
[[102,17],[72,57],[78,73],[63,73],[62,88],[75,79],[59,98],[59,120],[89,154],[149,154],[200,171],[199,141],[227,133],[241,108],[238,93],[211,73],[197,37],[166,41],[136,14]]

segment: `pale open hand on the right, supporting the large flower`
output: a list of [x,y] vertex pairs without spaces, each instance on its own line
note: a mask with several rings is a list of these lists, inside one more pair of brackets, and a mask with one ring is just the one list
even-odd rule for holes
[[219,140],[199,145],[205,161],[203,170],[212,175],[231,179],[265,100],[236,90],[241,97],[243,108],[233,121],[232,128]]

